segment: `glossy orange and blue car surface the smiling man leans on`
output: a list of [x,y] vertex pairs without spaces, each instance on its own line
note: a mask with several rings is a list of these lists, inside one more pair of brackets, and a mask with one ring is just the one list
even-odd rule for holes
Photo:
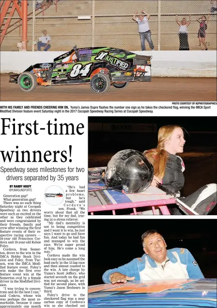
[[88,308],[217,307],[217,279],[162,279],[88,287]]

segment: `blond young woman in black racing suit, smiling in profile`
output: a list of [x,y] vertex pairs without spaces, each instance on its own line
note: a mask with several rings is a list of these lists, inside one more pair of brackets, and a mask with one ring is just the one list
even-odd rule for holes
[[[217,203],[217,185],[208,184],[187,197],[180,197],[180,189],[184,187],[183,171],[185,165],[177,153],[183,153],[185,138],[183,128],[178,125],[162,126],[158,131],[158,144],[155,149],[143,154],[154,167],[152,186],[161,184],[176,193],[177,197],[200,215],[207,215]],[[172,215],[183,215],[177,207]]]

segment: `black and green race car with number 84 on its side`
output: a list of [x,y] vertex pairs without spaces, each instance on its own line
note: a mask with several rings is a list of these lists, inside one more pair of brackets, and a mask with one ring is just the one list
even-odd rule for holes
[[25,92],[36,86],[90,84],[93,92],[104,93],[110,86],[124,88],[131,81],[151,81],[151,59],[123,49],[75,46],[52,63],[38,63],[10,75],[9,82]]

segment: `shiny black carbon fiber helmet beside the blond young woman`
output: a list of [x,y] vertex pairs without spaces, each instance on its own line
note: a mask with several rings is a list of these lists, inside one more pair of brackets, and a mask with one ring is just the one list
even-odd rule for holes
[[153,180],[154,168],[148,159],[135,150],[123,150],[109,160],[106,174],[106,188],[124,190],[126,193],[141,192]]

